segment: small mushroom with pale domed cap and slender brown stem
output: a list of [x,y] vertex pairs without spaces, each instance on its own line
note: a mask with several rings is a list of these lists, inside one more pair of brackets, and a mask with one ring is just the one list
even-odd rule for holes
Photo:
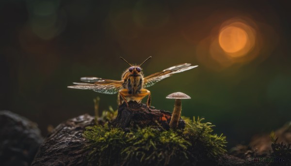
[[172,118],[170,121],[170,127],[172,129],[176,129],[178,126],[178,121],[181,116],[181,109],[182,109],[181,99],[191,99],[191,97],[182,92],[175,92],[175,93],[169,94],[166,98],[175,99],[175,107],[174,107],[174,111],[173,111]]

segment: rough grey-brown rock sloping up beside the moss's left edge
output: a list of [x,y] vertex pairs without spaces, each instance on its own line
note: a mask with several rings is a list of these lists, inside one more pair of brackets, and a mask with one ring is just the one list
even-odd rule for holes
[[94,117],[85,114],[59,124],[47,136],[32,166],[87,166],[90,151],[82,133],[94,125]]

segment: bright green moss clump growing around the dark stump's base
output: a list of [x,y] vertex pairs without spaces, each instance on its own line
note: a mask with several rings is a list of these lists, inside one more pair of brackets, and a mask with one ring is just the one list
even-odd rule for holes
[[91,165],[195,165],[226,152],[225,136],[212,135],[213,125],[203,119],[190,121],[184,130],[136,128],[122,130],[108,125],[88,127]]

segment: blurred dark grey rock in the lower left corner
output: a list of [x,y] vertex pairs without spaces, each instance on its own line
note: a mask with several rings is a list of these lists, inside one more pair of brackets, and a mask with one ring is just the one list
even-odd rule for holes
[[43,138],[37,124],[10,111],[0,111],[0,165],[29,166]]

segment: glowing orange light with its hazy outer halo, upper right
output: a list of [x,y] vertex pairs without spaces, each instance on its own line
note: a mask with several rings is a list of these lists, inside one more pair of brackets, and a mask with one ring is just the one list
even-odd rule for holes
[[[214,20],[213,17],[211,20]],[[220,71],[250,62],[261,53],[263,41],[255,20],[234,17],[213,26],[209,35],[199,42],[197,59],[208,68]]]

